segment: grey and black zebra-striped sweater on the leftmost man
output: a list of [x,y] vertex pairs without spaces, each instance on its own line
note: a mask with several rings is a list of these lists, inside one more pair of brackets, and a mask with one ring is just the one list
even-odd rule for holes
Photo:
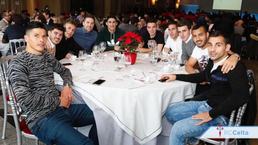
[[53,72],[60,74],[64,84],[72,84],[70,70],[47,51],[39,55],[25,51],[15,57],[8,67],[7,76],[18,103],[26,112],[28,125],[59,107]]

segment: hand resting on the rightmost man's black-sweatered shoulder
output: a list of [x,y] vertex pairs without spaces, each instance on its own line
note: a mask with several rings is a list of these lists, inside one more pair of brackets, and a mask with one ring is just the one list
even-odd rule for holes
[[229,57],[224,62],[220,64],[222,66],[221,71],[223,74],[228,73],[230,70],[233,70],[237,65],[238,58],[236,56]]

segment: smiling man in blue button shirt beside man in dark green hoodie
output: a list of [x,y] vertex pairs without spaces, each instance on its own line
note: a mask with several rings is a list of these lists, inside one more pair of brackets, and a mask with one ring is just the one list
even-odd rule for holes
[[[90,52],[92,45],[98,37],[98,33],[93,30],[95,18],[91,14],[86,14],[82,21],[82,28],[74,31],[74,40],[87,52]],[[98,44],[99,45],[99,44]]]

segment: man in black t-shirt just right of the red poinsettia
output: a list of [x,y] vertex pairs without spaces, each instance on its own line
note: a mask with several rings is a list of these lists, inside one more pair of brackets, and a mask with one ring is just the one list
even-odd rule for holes
[[164,35],[160,32],[157,31],[157,23],[154,20],[150,20],[147,23],[147,30],[142,38],[143,41],[145,42],[144,45],[139,44],[139,53],[148,53],[152,54],[152,50],[149,48],[152,44],[157,45],[157,51],[160,53],[162,51],[163,45],[165,44],[164,42]]

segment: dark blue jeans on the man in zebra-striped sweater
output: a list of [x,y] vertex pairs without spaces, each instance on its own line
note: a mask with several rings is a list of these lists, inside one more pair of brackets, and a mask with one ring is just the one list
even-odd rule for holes
[[[90,124],[93,126],[90,129],[89,137],[73,128]],[[73,104],[68,109],[60,107],[41,117],[31,131],[45,144],[98,144],[93,112],[86,104]]]

